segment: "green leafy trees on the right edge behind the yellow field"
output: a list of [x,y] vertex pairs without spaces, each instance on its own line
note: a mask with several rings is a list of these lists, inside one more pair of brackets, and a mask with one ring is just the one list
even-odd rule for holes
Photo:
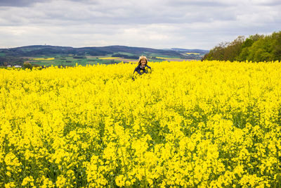
[[271,35],[239,36],[233,42],[221,42],[202,60],[281,61],[281,31]]

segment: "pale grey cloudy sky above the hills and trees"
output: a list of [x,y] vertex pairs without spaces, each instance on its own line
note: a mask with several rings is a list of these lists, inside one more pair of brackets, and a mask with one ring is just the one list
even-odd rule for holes
[[0,0],[0,48],[212,49],[281,30],[280,0]]

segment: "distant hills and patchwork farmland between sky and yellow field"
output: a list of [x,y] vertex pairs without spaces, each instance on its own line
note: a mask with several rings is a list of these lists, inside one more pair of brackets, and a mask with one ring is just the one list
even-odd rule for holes
[[[195,51],[197,53],[185,52]],[[199,52],[199,53],[198,53]],[[13,66],[31,63],[33,66],[75,66],[129,63],[147,56],[149,61],[186,61],[200,59],[207,51],[186,49],[148,49],[129,46],[72,48],[64,46],[22,46],[0,49],[0,65]]]

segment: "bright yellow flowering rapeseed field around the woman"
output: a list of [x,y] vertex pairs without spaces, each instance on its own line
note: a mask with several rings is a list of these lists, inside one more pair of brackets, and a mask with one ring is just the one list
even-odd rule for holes
[[280,62],[148,64],[1,69],[0,187],[281,186]]

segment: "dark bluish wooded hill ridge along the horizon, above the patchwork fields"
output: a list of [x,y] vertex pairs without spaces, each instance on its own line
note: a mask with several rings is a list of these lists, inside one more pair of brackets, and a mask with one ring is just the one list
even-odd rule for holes
[[34,45],[22,46],[11,49],[0,49],[2,56],[54,56],[54,55],[76,55],[76,56],[107,56],[117,53],[131,54],[133,56],[172,56],[178,58],[186,58],[185,52],[193,52],[199,54],[207,54],[208,51],[200,49],[150,49],[130,46],[102,46],[102,47],[83,47],[73,48],[70,46],[49,46]]

